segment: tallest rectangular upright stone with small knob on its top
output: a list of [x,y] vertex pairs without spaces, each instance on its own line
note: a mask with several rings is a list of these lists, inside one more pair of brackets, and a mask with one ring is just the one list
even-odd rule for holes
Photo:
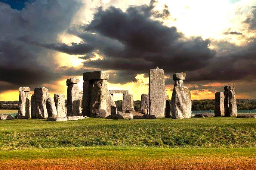
[[164,70],[149,71],[149,114],[164,117],[165,107]]

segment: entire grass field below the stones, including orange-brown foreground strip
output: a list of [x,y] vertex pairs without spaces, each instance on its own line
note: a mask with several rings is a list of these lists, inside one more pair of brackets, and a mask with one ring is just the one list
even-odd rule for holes
[[256,119],[0,121],[0,169],[256,169]]

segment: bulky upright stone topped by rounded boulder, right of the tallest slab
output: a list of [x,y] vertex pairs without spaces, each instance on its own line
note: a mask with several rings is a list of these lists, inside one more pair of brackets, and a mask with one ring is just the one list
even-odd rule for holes
[[175,73],[173,75],[173,80],[175,81],[171,101],[173,119],[186,119],[191,117],[191,93],[189,87],[183,86],[183,80],[185,80],[185,78],[185,73]]

